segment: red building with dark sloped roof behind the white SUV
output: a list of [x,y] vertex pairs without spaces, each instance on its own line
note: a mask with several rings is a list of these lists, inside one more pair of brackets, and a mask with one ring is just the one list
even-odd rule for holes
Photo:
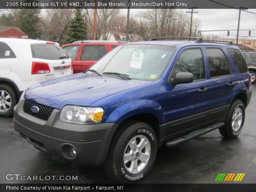
[[28,38],[18,27],[0,25],[0,37],[4,38]]

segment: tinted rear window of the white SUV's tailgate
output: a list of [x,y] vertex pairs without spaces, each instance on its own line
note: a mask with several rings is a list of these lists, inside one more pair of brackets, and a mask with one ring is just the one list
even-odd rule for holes
[[38,59],[63,60],[69,58],[58,44],[32,44],[31,51],[33,58]]

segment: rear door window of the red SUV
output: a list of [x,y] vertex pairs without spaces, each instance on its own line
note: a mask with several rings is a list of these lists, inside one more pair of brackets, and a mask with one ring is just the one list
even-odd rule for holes
[[107,53],[105,46],[86,45],[83,47],[82,61],[97,61]]

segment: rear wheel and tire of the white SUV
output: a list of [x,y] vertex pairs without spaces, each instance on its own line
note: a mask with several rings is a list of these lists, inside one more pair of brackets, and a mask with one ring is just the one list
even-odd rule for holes
[[[2,92],[4,92],[4,96],[7,96],[8,94],[10,96],[10,99],[4,100],[1,94]],[[11,103],[11,105],[8,106],[7,104],[5,104],[6,108],[4,108],[4,102]],[[13,108],[16,103],[16,94],[14,90],[7,84],[0,84],[0,117],[12,117]]]

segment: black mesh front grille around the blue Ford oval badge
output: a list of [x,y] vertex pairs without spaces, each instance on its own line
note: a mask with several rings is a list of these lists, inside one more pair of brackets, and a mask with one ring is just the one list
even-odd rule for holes
[[[37,106],[39,108],[39,111],[37,113],[32,112],[32,110],[31,110],[32,106]],[[48,118],[50,117],[50,115],[52,114],[52,111],[54,110],[54,108],[48,107],[48,106],[45,106],[45,105],[42,105],[42,104],[39,104],[36,102],[32,102],[32,101],[26,99],[24,102],[23,110],[24,110],[24,112],[26,112],[34,117],[37,117],[37,118],[47,121]]]

